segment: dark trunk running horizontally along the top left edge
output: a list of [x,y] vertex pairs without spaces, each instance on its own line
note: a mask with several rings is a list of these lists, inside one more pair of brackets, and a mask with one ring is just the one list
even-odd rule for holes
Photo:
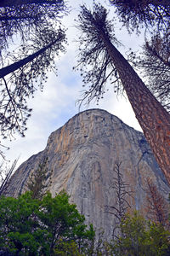
[[12,6],[18,6],[22,4],[28,4],[28,3],[53,4],[53,3],[63,3],[63,0],[1,0],[0,7],[12,7]]

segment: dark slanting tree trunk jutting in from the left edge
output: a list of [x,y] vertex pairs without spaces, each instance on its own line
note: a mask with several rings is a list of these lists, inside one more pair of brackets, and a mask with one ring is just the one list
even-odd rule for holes
[[48,44],[47,46],[43,47],[42,49],[38,50],[36,53],[29,55],[28,57],[16,61],[11,65],[8,65],[7,67],[3,67],[0,69],[0,79],[4,78],[9,73],[13,73],[15,70],[19,69],[20,67],[25,66],[30,61],[33,61],[33,59],[37,58],[38,55],[41,55],[44,53],[48,48],[50,48],[52,45],[54,45],[57,41],[59,41],[62,38],[62,35],[59,36],[54,42]]

